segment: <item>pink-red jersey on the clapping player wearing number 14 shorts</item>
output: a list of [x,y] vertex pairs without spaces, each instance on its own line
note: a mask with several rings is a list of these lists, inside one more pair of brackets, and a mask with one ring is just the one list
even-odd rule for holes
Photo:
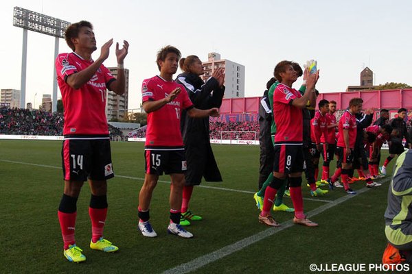
[[76,53],[61,53],[56,58],[57,82],[62,93],[65,108],[64,135],[107,135],[108,125],[105,114],[106,87],[115,77],[101,65],[91,79],[78,88],[71,88],[66,79],[93,64]]

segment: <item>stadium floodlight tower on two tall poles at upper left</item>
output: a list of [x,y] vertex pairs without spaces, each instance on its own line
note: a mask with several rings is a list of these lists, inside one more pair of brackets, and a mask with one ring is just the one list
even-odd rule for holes
[[[54,60],[58,55],[58,38],[65,38],[65,29],[70,25],[67,21],[58,18],[14,7],[13,25],[23,28],[23,53],[21,56],[21,95],[20,108],[25,108],[25,80],[27,63],[27,30],[54,36]],[[53,60],[53,66],[54,66]],[[57,75],[56,69],[53,70],[53,107],[52,111],[57,110]]]

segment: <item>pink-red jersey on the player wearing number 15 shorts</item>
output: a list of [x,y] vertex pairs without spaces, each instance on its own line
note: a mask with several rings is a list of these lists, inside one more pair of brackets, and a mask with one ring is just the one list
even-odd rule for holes
[[183,147],[181,113],[193,106],[185,87],[155,76],[143,81],[141,97],[143,102],[157,101],[168,97],[175,88],[181,88],[181,92],[173,101],[148,113],[146,147]]

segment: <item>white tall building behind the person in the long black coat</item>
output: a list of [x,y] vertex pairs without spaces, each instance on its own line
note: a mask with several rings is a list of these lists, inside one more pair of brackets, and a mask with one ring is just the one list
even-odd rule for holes
[[225,68],[225,98],[244,97],[244,66],[227,59],[220,59],[220,54],[212,52],[208,54],[207,62],[203,62],[205,74],[204,81],[218,68]]

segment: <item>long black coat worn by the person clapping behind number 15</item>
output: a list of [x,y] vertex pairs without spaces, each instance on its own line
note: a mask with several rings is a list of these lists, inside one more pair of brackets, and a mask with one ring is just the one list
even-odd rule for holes
[[[205,83],[198,75],[182,73],[176,82],[185,87],[195,108],[207,110],[222,105],[225,87],[219,88],[215,78],[211,77]],[[181,132],[187,160],[186,185],[198,185],[202,177],[207,182],[221,182],[222,176],[210,146],[209,117],[195,119],[183,111]]]

